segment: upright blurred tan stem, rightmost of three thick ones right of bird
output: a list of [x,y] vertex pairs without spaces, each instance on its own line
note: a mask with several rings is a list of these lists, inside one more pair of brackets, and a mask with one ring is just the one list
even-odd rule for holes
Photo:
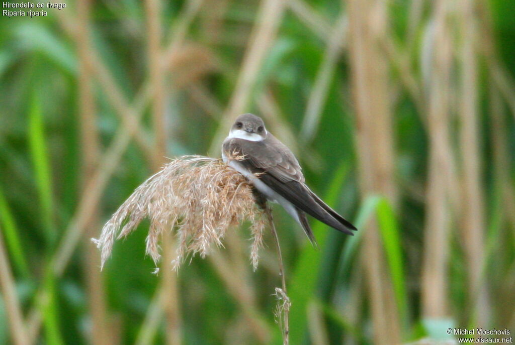
[[485,250],[485,210],[484,186],[481,181],[479,153],[479,119],[478,119],[478,64],[476,59],[476,42],[478,25],[474,2],[459,2],[459,19],[461,29],[461,73],[460,73],[460,151],[461,151],[461,214],[460,225],[464,240],[468,268],[468,296],[471,311],[469,315],[478,326],[488,325],[489,302],[486,284],[482,281]]

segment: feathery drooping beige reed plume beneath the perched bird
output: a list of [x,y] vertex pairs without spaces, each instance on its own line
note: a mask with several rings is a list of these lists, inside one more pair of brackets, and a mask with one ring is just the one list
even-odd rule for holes
[[253,238],[250,259],[254,269],[258,265],[265,210],[256,204],[245,177],[219,159],[173,159],[136,188],[104,225],[100,238],[93,239],[101,251],[101,267],[111,255],[114,240],[125,238],[145,218],[150,220],[146,253],[156,265],[161,259],[159,238],[165,231],[176,232],[172,263],[177,269],[188,255],[205,257],[213,246],[223,246],[227,230],[245,220],[251,223]]

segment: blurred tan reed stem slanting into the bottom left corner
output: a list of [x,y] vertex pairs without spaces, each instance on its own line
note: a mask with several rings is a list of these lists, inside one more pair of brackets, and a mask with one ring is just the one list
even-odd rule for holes
[[[0,231],[0,233],[2,232]],[[25,330],[22,309],[16,295],[16,285],[10,267],[4,238],[0,234],[0,287],[2,287],[2,297],[4,298],[9,330],[14,345],[27,345],[29,344],[29,339]]]

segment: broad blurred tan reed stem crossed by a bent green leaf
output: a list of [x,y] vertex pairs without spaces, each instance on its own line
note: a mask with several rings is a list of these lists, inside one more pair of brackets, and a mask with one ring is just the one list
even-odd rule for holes
[[[348,0],[349,53],[356,113],[358,172],[363,197],[380,193],[397,201],[388,67],[380,42],[388,27],[386,3]],[[397,345],[400,322],[384,249],[375,219],[364,234],[362,264],[367,277],[376,343]]]

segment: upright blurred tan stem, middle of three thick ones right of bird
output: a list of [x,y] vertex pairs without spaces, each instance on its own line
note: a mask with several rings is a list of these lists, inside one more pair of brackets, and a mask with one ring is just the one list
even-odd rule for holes
[[454,162],[449,133],[451,105],[452,42],[449,27],[449,3],[435,5],[434,22],[428,28],[425,80],[428,88],[427,130],[429,135],[429,174],[426,188],[426,215],[422,269],[422,314],[426,318],[447,317],[448,238],[451,229],[453,200],[448,180],[454,175]]

